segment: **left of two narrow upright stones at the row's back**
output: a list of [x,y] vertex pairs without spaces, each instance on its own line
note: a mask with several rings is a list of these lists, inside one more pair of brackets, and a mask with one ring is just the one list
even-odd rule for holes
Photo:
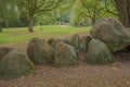
[[72,37],[72,45],[77,49],[79,49],[79,47],[80,47],[80,41],[81,41],[81,39],[78,34],[76,34]]

